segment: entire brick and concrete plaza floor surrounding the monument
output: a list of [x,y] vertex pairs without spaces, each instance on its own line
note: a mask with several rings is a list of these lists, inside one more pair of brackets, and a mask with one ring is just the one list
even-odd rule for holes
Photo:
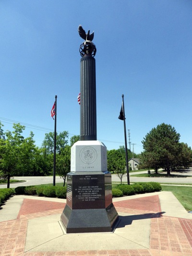
[[192,256],[192,214],[171,192],[113,199],[111,233],[66,234],[66,200],[15,195],[0,207],[0,256]]

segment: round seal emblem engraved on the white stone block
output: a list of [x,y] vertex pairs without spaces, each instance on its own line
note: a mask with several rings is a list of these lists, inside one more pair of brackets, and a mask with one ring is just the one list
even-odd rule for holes
[[85,146],[80,151],[80,159],[85,164],[92,164],[93,162],[95,162],[96,157],[97,157],[96,150],[92,146]]

